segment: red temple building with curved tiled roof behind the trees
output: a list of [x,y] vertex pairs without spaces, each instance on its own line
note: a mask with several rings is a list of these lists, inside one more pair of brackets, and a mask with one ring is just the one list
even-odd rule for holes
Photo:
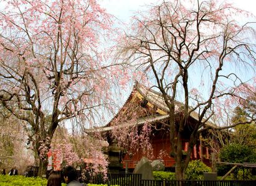
[[[176,123],[178,123],[179,115],[181,114],[179,112],[179,108],[181,107],[183,107],[183,104],[176,102]],[[159,92],[136,82],[128,99],[125,104],[123,104],[123,107],[120,108],[119,112],[106,126],[100,128],[100,131],[107,136],[108,143],[110,144],[107,150],[108,160],[110,161],[110,172],[122,172],[125,166],[128,166],[130,170],[134,169],[138,161],[140,161],[141,157],[145,154],[145,149],[144,151],[140,149],[128,150],[118,147],[116,140],[111,138],[111,132],[113,132],[116,127],[122,129],[136,126],[138,133],[140,133],[140,130],[142,130],[145,124],[152,126],[149,142],[151,149],[153,149],[153,158],[161,159],[166,169],[174,169],[175,161],[171,153],[171,143],[167,125],[168,120],[168,107],[164,103],[163,96]],[[192,112],[184,128],[184,155],[188,148],[191,129],[196,122],[198,122],[198,113]],[[212,125],[212,123],[206,122],[206,125]],[[204,140],[202,140],[204,136],[206,136],[206,133],[201,133],[200,136],[201,138],[194,146],[191,159],[201,159],[207,166],[211,166],[209,159],[211,150],[208,148],[207,144],[204,143]]]

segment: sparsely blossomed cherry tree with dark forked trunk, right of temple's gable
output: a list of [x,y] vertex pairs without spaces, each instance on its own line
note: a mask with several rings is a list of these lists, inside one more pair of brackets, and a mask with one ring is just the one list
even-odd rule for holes
[[[184,179],[199,132],[211,128],[219,103],[235,104],[255,90],[255,30],[241,25],[235,17],[253,16],[219,1],[164,1],[133,19],[130,32],[120,42],[120,59],[135,64],[153,79],[152,88],[163,94],[169,108],[171,148],[176,161],[176,179]],[[240,18],[239,17],[239,18]],[[240,71],[239,71],[240,69]],[[244,73],[246,69],[247,77]],[[245,81],[249,86],[244,86]],[[175,101],[179,108],[176,126]],[[227,101],[225,101],[227,100]],[[183,131],[192,112],[198,122],[191,129],[187,156],[183,159]],[[247,117],[255,122],[255,115]],[[216,126],[217,127],[217,126]],[[220,126],[228,128],[231,126]]]

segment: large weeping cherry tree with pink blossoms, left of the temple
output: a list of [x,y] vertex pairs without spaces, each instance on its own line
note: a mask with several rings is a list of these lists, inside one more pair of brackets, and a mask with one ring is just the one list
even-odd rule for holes
[[[0,100],[28,125],[45,174],[60,122],[98,122],[110,99],[111,17],[95,0],[7,0],[0,12]],[[97,111],[97,112],[96,112]]]

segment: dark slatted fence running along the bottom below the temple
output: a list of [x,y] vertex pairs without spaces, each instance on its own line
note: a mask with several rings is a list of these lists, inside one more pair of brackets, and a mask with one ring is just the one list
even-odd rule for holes
[[85,183],[120,186],[255,186],[256,180],[143,180],[141,174],[85,174]]

